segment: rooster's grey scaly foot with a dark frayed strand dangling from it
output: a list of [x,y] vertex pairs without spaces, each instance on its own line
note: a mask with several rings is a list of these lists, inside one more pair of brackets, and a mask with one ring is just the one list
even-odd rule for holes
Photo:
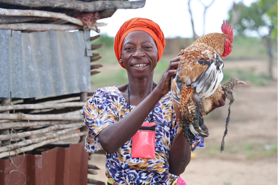
[[228,116],[227,116],[226,125],[225,125],[226,129],[225,129],[223,139],[222,139],[222,142],[221,142],[221,148],[220,148],[221,153],[224,150],[224,137],[228,133],[228,124],[229,124],[229,121],[230,121],[230,114],[231,114],[231,109],[230,108],[231,108],[232,103],[235,101],[233,90],[234,90],[234,87],[238,84],[246,84],[246,83],[244,81],[238,80],[237,78],[232,78],[230,81],[228,81],[227,83],[225,83],[222,86],[222,91],[224,91],[225,97],[230,100],[230,103],[229,103]]

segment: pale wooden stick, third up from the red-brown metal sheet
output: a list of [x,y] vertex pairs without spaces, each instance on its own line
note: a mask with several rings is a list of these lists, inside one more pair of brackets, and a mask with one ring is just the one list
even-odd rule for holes
[[72,127],[79,127],[80,128],[82,126],[85,126],[85,122],[77,122],[77,123],[61,124],[61,125],[52,125],[50,127],[46,127],[46,128],[39,129],[39,130],[0,135],[0,140],[8,140],[8,139],[12,139],[12,138],[13,139],[14,138],[22,138],[22,137],[27,137],[27,136],[31,136],[31,135],[38,135],[38,134],[47,133],[47,132],[50,132],[50,131],[53,131],[53,130],[60,130],[60,129],[72,128]]

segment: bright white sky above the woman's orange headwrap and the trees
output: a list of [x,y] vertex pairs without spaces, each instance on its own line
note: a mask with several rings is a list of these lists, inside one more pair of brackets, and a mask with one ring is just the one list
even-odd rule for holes
[[[203,12],[204,6],[212,0],[192,0],[191,12],[194,20],[195,32],[198,36],[203,35]],[[240,0],[215,0],[212,6],[207,9],[205,34],[221,32],[223,20],[228,19],[228,12],[233,5],[233,1]],[[250,6],[256,0],[243,0],[246,6]],[[165,3],[163,3],[165,2]],[[98,27],[100,34],[106,33],[110,37],[115,37],[121,25],[134,17],[148,18],[156,22],[166,38],[193,37],[191,18],[188,12],[188,0],[146,0],[143,8],[139,9],[118,9],[112,17],[100,19],[97,22],[107,23],[107,26]],[[92,35],[97,35],[93,32]]]

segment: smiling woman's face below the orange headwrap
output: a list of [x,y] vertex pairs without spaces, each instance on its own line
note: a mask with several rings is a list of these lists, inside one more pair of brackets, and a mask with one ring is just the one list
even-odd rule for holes
[[144,31],[130,32],[123,40],[120,63],[136,78],[147,77],[156,67],[157,46]]

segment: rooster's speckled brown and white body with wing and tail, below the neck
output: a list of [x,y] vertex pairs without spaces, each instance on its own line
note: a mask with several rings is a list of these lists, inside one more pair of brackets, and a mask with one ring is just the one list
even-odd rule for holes
[[[191,145],[194,135],[209,135],[202,115],[206,114],[214,99],[221,97],[219,84],[223,78],[223,65],[220,56],[211,46],[196,43],[183,50],[177,75],[172,77],[173,106],[178,112],[177,132],[183,131]],[[215,94],[220,94],[220,97]]]

